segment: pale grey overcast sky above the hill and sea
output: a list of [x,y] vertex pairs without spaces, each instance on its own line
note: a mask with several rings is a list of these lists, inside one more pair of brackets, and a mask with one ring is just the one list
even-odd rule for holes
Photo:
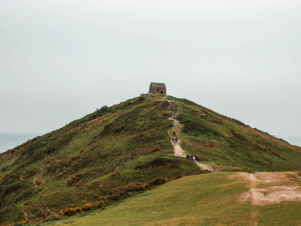
[[0,132],[58,129],[151,82],[301,135],[299,0],[2,0]]

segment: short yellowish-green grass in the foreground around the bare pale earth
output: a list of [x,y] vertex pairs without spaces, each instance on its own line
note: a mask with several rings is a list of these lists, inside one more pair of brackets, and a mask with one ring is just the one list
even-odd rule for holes
[[[301,180],[293,179],[286,183],[301,185]],[[268,186],[267,183],[260,182],[258,185],[264,186]],[[301,224],[300,200],[260,205],[240,198],[248,190],[250,181],[241,173],[194,175],[168,182],[89,216],[74,216],[43,225]]]

